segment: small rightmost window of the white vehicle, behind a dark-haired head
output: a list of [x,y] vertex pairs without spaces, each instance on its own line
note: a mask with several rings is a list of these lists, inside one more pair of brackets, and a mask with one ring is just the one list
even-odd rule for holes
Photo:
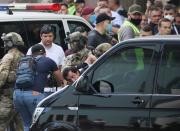
[[84,27],[87,32],[89,32],[91,29],[83,22],[80,21],[67,21],[70,33],[75,32],[75,29],[77,27]]

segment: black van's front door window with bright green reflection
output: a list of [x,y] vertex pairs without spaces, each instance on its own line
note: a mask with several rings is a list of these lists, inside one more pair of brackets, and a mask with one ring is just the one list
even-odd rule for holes
[[92,84],[96,81],[107,81],[114,87],[114,92],[149,93],[155,68],[153,63],[153,46],[124,48],[101,64],[95,71]]

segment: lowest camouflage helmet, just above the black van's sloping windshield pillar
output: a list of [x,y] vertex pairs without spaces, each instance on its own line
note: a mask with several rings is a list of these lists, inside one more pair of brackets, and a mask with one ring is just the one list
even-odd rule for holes
[[111,47],[112,45],[109,43],[102,43],[95,48],[94,54],[96,57],[100,57],[103,53],[105,53]]

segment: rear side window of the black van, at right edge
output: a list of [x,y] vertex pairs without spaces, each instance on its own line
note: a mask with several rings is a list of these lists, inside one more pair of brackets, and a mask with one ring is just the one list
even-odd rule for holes
[[180,94],[180,45],[164,46],[157,85],[157,93]]

